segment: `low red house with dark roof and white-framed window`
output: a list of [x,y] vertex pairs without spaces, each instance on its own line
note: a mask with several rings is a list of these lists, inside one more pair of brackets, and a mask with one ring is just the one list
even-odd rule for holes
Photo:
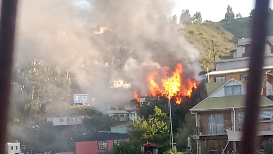
[[94,132],[75,139],[76,154],[97,154],[110,152],[114,143],[129,142],[129,135],[113,132]]

